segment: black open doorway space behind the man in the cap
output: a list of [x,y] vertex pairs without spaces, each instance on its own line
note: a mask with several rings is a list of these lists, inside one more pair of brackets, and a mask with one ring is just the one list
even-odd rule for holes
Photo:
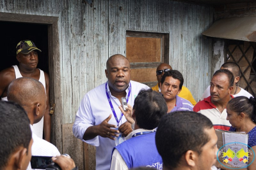
[[48,25],[46,24],[27,24],[21,22],[0,22],[0,49],[1,62],[0,71],[7,67],[17,65],[16,45],[21,40],[29,39],[35,43],[38,52],[38,68],[49,73],[48,63]]

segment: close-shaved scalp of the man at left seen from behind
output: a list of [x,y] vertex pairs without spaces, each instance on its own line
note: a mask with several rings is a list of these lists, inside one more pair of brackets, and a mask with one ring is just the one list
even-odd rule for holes
[[28,77],[13,80],[7,90],[8,101],[19,103],[22,107],[38,103],[40,98],[45,97],[44,85],[40,81]]

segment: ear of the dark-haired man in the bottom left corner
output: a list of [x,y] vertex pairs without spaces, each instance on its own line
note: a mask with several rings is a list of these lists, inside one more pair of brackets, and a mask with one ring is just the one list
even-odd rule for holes
[[[20,147],[17,152],[13,154],[14,164],[17,169],[22,169],[22,162],[26,160],[27,148]],[[23,167],[23,169],[26,169]]]

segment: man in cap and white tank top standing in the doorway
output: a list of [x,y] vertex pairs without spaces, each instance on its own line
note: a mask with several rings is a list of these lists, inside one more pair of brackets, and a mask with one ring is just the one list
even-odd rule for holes
[[8,85],[15,80],[15,78],[30,77],[40,81],[45,88],[47,94],[47,108],[44,118],[34,125],[35,133],[39,138],[51,142],[51,115],[50,101],[49,101],[49,75],[44,71],[36,68],[38,64],[38,52],[41,52],[36,47],[35,43],[29,39],[20,41],[16,46],[16,59],[19,62],[18,66],[12,66],[0,72],[0,96],[2,101],[7,101]]

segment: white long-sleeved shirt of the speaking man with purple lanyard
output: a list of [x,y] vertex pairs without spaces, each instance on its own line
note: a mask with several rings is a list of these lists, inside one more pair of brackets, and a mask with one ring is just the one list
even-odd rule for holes
[[[131,95],[128,104],[133,106],[134,99],[138,95],[141,89],[149,89],[147,85],[138,83],[136,81],[131,82]],[[129,87],[125,90],[126,97],[128,95]],[[111,95],[109,86],[107,85],[107,91],[110,96],[111,103],[116,112],[116,117],[120,120],[122,112],[118,108],[121,105],[118,98]],[[111,107],[109,106],[108,97],[106,96],[106,83],[99,85],[95,89],[90,90],[79,106],[76,114],[76,120],[73,125],[73,133],[76,138],[84,141],[83,136],[86,129],[93,125],[99,125],[103,120],[112,115],[109,120],[109,124],[117,125]],[[126,122],[125,117],[122,117],[120,124]],[[90,145],[96,146],[96,169],[104,170],[110,168],[111,163],[111,153],[113,147],[115,147],[115,141],[109,138],[102,138],[101,136],[96,136],[93,139],[84,141]]]

